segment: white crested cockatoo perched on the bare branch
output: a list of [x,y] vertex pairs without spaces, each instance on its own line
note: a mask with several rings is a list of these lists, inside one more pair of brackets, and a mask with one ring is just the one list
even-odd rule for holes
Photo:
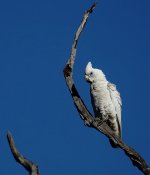
[[[91,103],[96,119],[105,122],[115,136],[121,139],[121,107],[120,93],[114,84],[110,83],[101,69],[92,67],[88,62],[85,68],[85,79],[90,83]],[[109,139],[113,148],[117,148],[117,142]]]

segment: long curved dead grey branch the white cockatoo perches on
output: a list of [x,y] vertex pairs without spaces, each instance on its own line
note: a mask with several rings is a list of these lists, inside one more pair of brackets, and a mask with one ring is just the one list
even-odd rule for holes
[[121,148],[125,154],[129,157],[129,159],[132,161],[133,165],[136,166],[141,172],[143,172],[145,175],[150,175],[150,167],[145,162],[145,160],[131,147],[123,143],[122,140],[120,140],[118,137],[116,137],[111,129],[107,126],[107,124],[104,122],[100,124],[98,120],[95,120],[95,118],[91,115],[91,113],[88,111],[87,107],[85,106],[83,100],[79,96],[79,93],[75,87],[72,74],[73,74],[73,65],[75,62],[75,56],[76,56],[76,49],[77,49],[77,43],[78,39],[80,37],[80,34],[87,22],[87,19],[89,15],[93,12],[94,8],[96,7],[96,3],[94,3],[89,10],[85,12],[83,15],[83,19],[81,21],[81,24],[75,34],[75,38],[72,44],[71,54],[70,58],[67,60],[67,63],[64,68],[64,77],[68,86],[68,89],[71,93],[71,96],[73,98],[74,104],[79,112],[79,115],[81,119],[84,121],[84,123],[91,128],[96,129],[97,131],[104,134],[106,137],[110,139],[116,140],[118,147]]

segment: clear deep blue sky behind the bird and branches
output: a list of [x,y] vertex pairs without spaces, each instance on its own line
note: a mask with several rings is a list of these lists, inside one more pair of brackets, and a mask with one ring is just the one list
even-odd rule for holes
[[[27,172],[20,152],[41,175],[140,175],[121,150],[83,125],[63,78],[75,31],[91,0],[0,2],[0,174]],[[150,164],[149,0],[101,0],[79,41],[74,79],[92,112],[88,61],[121,93],[123,140]]]

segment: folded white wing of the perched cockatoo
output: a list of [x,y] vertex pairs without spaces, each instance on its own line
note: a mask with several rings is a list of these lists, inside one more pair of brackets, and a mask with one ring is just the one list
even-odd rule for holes
[[117,113],[117,120],[120,128],[120,134],[121,134],[121,106],[122,101],[120,97],[120,93],[117,91],[116,86],[112,83],[108,83],[107,88],[110,93],[110,97],[112,99],[112,103],[115,107],[116,113]]

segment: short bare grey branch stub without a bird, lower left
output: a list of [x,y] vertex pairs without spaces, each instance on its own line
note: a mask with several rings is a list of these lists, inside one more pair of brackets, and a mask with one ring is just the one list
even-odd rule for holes
[[17,150],[15,146],[13,137],[10,132],[7,133],[7,139],[8,139],[8,143],[9,143],[11,152],[16,162],[21,164],[29,172],[29,175],[40,175],[38,165],[36,165],[30,160],[27,160],[25,157],[23,157],[19,153],[19,151]]

